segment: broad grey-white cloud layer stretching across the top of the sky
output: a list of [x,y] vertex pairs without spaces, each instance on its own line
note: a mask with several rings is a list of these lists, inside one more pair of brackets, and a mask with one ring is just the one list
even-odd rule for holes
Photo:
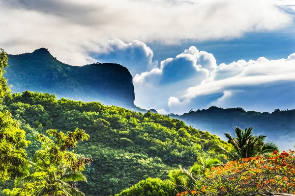
[[[275,0],[0,0],[0,46],[11,54],[44,47],[65,63],[84,65],[96,61],[89,54],[101,52],[106,40],[176,44],[284,28],[293,24],[287,5]],[[152,64],[151,56],[144,63]]]

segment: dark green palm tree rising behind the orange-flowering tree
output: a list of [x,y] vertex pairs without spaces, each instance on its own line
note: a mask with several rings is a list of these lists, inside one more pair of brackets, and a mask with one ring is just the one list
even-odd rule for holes
[[232,144],[234,147],[233,152],[228,152],[223,147],[218,146],[217,148],[226,152],[229,158],[239,159],[239,158],[249,158],[255,156],[269,156],[273,151],[278,151],[279,148],[276,144],[270,142],[266,143],[265,135],[253,135],[253,127],[249,127],[245,130],[236,126],[236,138],[233,138],[230,134],[225,133],[225,137],[228,139],[228,143]]

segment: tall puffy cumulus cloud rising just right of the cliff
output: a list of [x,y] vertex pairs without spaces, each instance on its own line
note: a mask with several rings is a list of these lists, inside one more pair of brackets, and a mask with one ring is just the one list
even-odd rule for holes
[[186,88],[200,84],[216,68],[212,54],[190,47],[175,58],[162,61],[159,68],[135,75],[135,104],[144,108],[167,107],[170,96],[183,95]]

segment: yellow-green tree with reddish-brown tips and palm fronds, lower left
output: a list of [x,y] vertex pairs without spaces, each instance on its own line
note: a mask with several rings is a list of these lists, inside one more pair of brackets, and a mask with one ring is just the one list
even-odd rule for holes
[[31,172],[16,180],[16,188],[4,190],[10,196],[84,196],[76,188],[75,182],[87,181],[82,174],[91,159],[79,157],[73,151],[79,141],[89,139],[82,129],[75,129],[66,134],[50,129],[47,131],[51,140],[39,134],[36,140],[42,148],[36,151]]

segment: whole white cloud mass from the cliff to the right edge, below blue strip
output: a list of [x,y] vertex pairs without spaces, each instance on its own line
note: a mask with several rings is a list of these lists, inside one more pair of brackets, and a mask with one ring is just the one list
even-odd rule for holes
[[292,107],[294,57],[295,53],[287,59],[241,59],[217,66],[213,54],[192,46],[162,61],[159,68],[135,75],[135,104],[178,114],[212,105],[260,111]]

